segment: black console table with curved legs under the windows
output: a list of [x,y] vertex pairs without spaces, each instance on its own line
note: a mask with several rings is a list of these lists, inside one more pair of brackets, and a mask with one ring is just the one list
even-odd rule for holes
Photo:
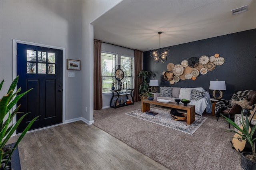
[[[128,105],[133,105],[134,104],[134,99],[133,99],[133,95],[132,95],[132,91],[133,91],[134,89],[115,89],[115,90],[110,90],[111,92],[112,92],[112,98],[111,98],[111,100],[110,100],[110,107],[112,107],[112,108],[118,108],[118,107],[123,107],[123,106],[128,106]],[[116,105],[116,102],[118,101],[118,99],[119,99],[119,97],[120,96],[126,96],[126,99],[129,99],[128,98],[128,95],[130,95],[131,96],[131,98],[132,98],[132,100],[131,100],[131,103],[127,103],[127,104],[122,104],[121,105],[121,103],[117,106]],[[116,98],[116,100],[114,100],[114,105],[112,105],[112,101],[113,101],[113,98],[114,98],[114,96],[117,96],[117,98]],[[126,100],[126,99],[124,99],[124,101]]]

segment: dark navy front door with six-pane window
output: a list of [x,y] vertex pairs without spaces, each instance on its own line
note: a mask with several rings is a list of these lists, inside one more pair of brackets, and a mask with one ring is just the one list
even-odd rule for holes
[[[17,43],[17,75],[21,93],[32,91],[17,103],[28,114],[17,128],[20,133],[36,116],[30,130],[62,123],[62,50]],[[17,120],[24,114],[18,113]]]

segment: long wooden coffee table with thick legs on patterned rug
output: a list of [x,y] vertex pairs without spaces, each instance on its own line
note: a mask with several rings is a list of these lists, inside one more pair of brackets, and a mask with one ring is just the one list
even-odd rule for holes
[[149,111],[150,104],[187,111],[187,124],[190,125],[191,123],[193,123],[195,121],[195,106],[194,105],[183,106],[183,104],[177,105],[175,102],[162,103],[162,102],[158,102],[157,100],[142,99],[141,100],[141,112]]

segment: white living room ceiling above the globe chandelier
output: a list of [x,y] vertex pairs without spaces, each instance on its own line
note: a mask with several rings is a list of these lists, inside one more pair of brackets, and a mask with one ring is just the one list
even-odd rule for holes
[[[231,10],[248,5],[248,11]],[[124,0],[92,22],[94,38],[148,51],[256,28],[256,0]]]

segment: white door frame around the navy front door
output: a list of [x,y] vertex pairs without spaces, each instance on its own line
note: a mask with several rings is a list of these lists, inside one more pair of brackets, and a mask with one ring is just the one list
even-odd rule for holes
[[[14,80],[17,77],[17,43],[22,43],[22,44],[27,44],[27,45],[34,45],[34,46],[40,46],[40,47],[47,47],[47,48],[53,48],[53,49],[61,49],[62,52],[62,67],[63,67],[63,71],[62,71],[62,80],[63,80],[63,93],[62,93],[62,124],[65,123],[65,65],[66,65],[66,60],[65,60],[65,48],[63,47],[55,47],[55,46],[51,46],[51,45],[44,45],[44,44],[40,44],[40,43],[32,43],[32,42],[25,42],[25,41],[20,41],[20,40],[13,40],[12,41],[12,56],[13,56],[13,67],[12,67],[12,71],[13,71],[13,75],[12,75],[12,79]],[[16,106],[14,106],[16,107]],[[13,108],[15,109],[15,108]],[[14,116],[14,118],[12,119],[12,123],[16,123],[16,115]],[[57,124],[60,125],[60,124]],[[49,127],[53,127],[53,126],[57,126],[57,125],[52,125]],[[44,127],[44,128],[48,128],[48,127]],[[36,130],[40,130],[43,128],[39,128]],[[35,131],[35,130],[31,130],[31,131]],[[16,135],[16,130],[13,134],[14,136]]]

